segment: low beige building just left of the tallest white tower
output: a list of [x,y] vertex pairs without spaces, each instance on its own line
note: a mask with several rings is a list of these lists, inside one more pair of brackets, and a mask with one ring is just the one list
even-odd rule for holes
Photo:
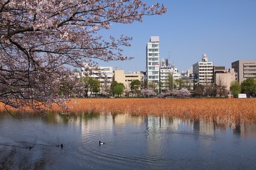
[[133,80],[138,79],[142,83],[144,75],[142,72],[127,72],[124,73],[123,69],[115,69],[114,70],[114,81],[117,81],[118,83],[124,84],[124,86],[129,89],[129,84]]

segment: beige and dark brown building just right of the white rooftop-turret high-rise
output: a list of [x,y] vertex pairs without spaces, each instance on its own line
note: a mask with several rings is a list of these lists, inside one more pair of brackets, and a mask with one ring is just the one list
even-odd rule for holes
[[226,89],[230,90],[230,84],[235,81],[235,71],[233,68],[225,69],[225,67],[213,67],[213,81],[218,86],[225,86]]

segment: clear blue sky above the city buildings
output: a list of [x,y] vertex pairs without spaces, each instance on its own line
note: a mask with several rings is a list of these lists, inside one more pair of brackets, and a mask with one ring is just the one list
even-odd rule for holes
[[255,0],[159,0],[168,8],[161,16],[145,16],[142,23],[114,24],[111,35],[134,38],[122,62],[99,62],[134,72],[146,69],[146,42],[160,37],[160,59],[169,58],[179,72],[201,61],[203,53],[216,66],[231,67],[236,60],[256,59]]

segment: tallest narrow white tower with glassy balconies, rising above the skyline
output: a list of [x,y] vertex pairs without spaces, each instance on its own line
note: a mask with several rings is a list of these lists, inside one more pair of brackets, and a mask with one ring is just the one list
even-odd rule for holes
[[151,36],[146,44],[146,87],[150,82],[159,84],[159,36]]

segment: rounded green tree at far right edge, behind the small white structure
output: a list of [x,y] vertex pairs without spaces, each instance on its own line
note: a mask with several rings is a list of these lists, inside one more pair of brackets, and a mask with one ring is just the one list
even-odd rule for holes
[[255,97],[256,94],[256,80],[252,77],[247,78],[241,83],[241,91],[247,96]]

